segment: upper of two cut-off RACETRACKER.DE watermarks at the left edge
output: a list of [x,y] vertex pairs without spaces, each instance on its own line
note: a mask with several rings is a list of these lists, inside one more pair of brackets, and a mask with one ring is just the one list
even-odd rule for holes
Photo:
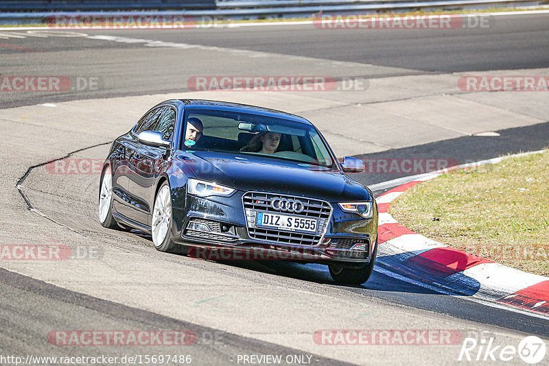
[[99,90],[100,77],[63,75],[0,75],[0,92],[80,92]]

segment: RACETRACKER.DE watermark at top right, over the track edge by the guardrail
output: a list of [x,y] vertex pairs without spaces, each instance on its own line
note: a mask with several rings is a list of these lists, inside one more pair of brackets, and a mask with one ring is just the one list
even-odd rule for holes
[[325,14],[313,21],[317,29],[487,29],[493,16],[483,14],[429,14],[372,16],[371,14]]

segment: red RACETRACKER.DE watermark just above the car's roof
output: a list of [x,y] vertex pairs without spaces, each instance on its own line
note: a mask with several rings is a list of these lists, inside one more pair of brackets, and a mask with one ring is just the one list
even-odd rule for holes
[[189,77],[187,88],[193,91],[364,91],[369,80],[364,77],[327,75],[197,75]]

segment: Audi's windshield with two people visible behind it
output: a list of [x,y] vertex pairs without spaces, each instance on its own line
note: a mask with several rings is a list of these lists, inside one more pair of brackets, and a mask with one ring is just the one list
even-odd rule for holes
[[182,149],[223,151],[336,169],[315,128],[286,119],[222,110],[186,110]]

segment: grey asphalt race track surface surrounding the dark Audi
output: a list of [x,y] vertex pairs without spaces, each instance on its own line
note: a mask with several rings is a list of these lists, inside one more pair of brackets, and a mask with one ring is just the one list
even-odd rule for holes
[[[458,361],[465,337],[482,344],[493,338],[501,347],[517,347],[531,334],[547,342],[548,317],[443,295],[387,272],[375,271],[363,286],[340,286],[321,265],[156,252],[149,236],[98,223],[99,174],[52,173],[44,165],[100,161],[114,138],[172,97],[301,114],[338,156],[365,160],[463,163],[543,149],[548,92],[467,93],[457,83],[463,75],[548,75],[549,14],[490,16],[489,25],[0,29],[1,76],[71,80],[65,91],[0,92],[1,244],[58,243],[79,254],[1,260],[0,356],[126,356],[124,364],[133,364],[128,356],[170,354],[191,355],[192,365],[239,365],[253,364],[244,355],[282,355],[281,364],[294,365],[453,365],[482,364]],[[311,93],[189,88],[189,78],[200,75],[325,75],[338,86]],[[349,78],[361,87],[342,88]],[[355,178],[376,184],[413,173],[422,171],[378,169]],[[434,345],[327,345],[314,337],[361,329],[448,330],[461,337]],[[51,337],[69,330],[185,330],[196,341],[60,345]],[[484,357],[478,347],[471,356],[477,353]],[[274,364],[262,360],[255,364]],[[524,365],[519,356],[507,363]]]

